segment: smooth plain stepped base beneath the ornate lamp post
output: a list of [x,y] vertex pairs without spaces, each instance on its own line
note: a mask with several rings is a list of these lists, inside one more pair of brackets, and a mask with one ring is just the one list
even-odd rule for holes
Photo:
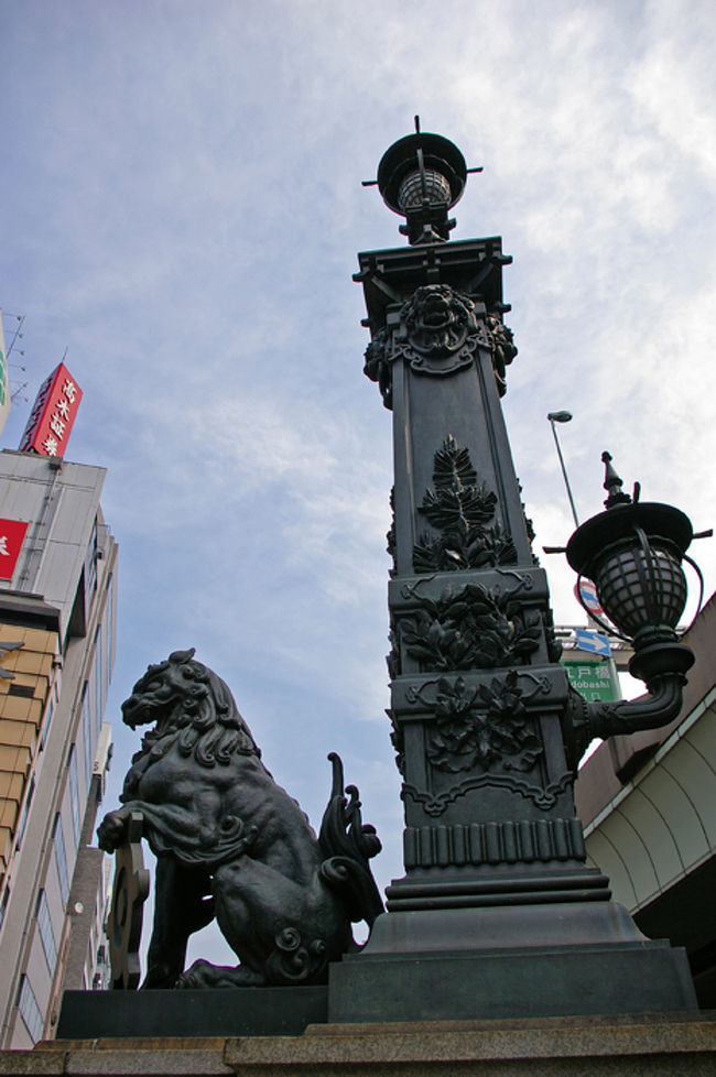
[[386,913],[330,968],[328,1021],[426,1021],[696,1009],[685,951],[612,901]]

